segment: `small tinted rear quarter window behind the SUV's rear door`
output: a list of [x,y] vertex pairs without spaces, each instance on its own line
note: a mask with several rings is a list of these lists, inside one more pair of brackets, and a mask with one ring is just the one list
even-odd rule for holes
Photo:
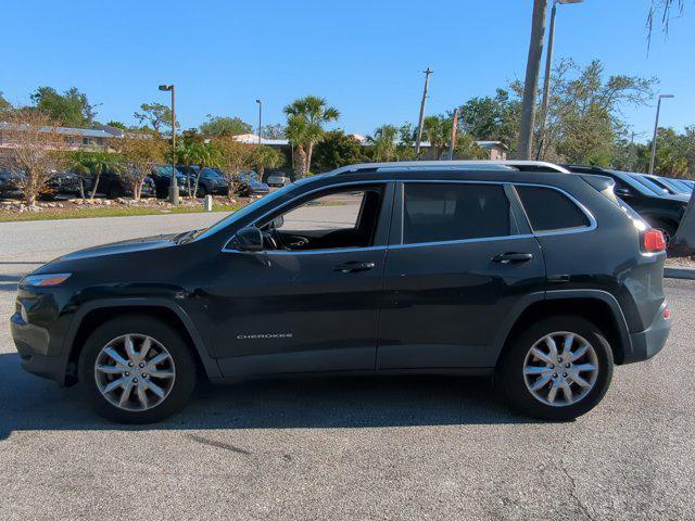
[[590,225],[586,215],[565,194],[552,188],[517,186],[533,231],[566,230]]

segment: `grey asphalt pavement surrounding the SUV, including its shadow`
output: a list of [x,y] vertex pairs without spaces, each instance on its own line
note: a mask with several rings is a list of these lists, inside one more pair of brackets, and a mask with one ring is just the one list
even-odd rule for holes
[[[211,219],[0,225],[0,315],[28,262]],[[0,327],[0,519],[694,519],[695,282],[667,285],[666,351],[556,424],[509,412],[484,381],[392,378],[203,391],[124,428],[23,373]]]

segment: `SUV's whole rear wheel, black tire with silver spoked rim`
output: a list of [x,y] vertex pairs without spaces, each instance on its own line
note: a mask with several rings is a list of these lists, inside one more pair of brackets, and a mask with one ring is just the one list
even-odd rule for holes
[[[580,354],[584,341],[590,346],[582,356],[576,360],[570,359],[569,369],[566,367],[568,360],[564,353],[567,333],[574,335],[570,343],[574,355]],[[540,343],[547,335],[552,335],[555,341],[557,356],[565,354],[559,364],[551,365],[547,363],[549,360],[538,358],[531,353],[533,347],[545,356],[552,353],[547,343]],[[509,350],[498,365],[495,382],[517,410],[543,420],[572,420],[593,409],[608,391],[614,370],[612,352],[603,333],[589,320],[572,315],[549,317],[532,325],[517,338],[510,339],[510,342]],[[597,369],[586,370],[591,366]],[[582,385],[579,384],[580,380],[574,380],[576,377],[579,377]],[[543,379],[549,380],[543,383]],[[586,383],[591,387],[585,386]],[[566,384],[571,401],[567,398]],[[541,385],[540,389],[532,391],[531,387],[536,385]],[[552,396],[553,386],[557,389]]]

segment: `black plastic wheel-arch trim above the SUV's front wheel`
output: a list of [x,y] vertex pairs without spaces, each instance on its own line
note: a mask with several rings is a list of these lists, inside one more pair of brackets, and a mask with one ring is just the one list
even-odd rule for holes
[[117,301],[92,302],[83,306],[65,336],[63,353],[67,354],[65,383],[77,381],[76,367],[85,341],[100,323],[125,315],[148,315],[155,317],[177,329],[190,345],[193,356],[207,378],[220,378],[217,361],[210,356],[202,336],[193,321],[180,307],[166,300],[125,298]]

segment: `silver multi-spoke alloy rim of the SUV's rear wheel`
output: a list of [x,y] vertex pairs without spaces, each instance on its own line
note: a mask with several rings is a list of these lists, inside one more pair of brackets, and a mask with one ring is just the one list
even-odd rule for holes
[[568,331],[536,341],[523,360],[523,380],[531,395],[553,407],[583,399],[598,377],[596,351],[584,338]]

